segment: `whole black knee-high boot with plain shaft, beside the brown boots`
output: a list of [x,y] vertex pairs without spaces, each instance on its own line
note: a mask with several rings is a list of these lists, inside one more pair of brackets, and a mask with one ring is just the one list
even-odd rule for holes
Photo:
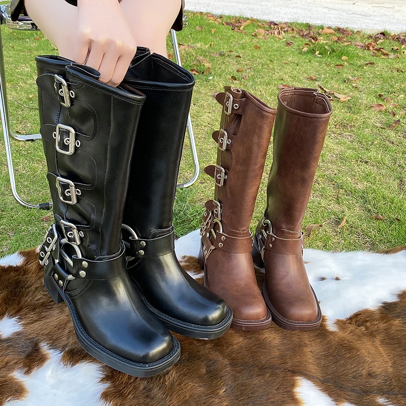
[[223,334],[231,309],[193,280],[174,251],[173,204],[193,76],[168,59],[134,62],[124,83],[146,94],[137,130],[123,223],[127,268],[152,313],[172,331],[201,339]]

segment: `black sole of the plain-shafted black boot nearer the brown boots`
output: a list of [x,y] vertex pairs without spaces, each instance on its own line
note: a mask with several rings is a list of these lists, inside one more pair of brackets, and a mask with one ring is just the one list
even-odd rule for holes
[[167,314],[162,313],[160,310],[153,307],[140,287],[137,285],[137,283],[134,281],[132,281],[132,283],[137,289],[141,300],[144,302],[148,310],[152,312],[154,316],[157,317],[168,330],[185,335],[187,337],[192,337],[193,339],[213,340],[223,335],[230,327],[232,321],[232,311],[230,308],[228,308],[227,316],[225,317],[225,319],[221,323],[214,326],[201,326],[199,324],[188,323],[186,321],[175,319],[172,316],[168,316]]

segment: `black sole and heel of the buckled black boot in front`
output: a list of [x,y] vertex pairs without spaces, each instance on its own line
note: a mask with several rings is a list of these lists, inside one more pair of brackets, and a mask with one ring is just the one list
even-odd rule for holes
[[97,344],[86,333],[76,315],[75,308],[73,307],[69,297],[60,291],[59,287],[56,285],[51,276],[48,275],[44,277],[44,287],[56,303],[61,303],[62,301],[66,303],[72,317],[73,326],[75,328],[75,333],[79,344],[88,354],[98,361],[117,369],[124,374],[131,375],[133,377],[145,378],[160,374],[179,360],[181,356],[180,344],[175,337],[173,338],[174,349],[164,358],[155,362],[147,364],[133,362],[112,353],[111,351]]

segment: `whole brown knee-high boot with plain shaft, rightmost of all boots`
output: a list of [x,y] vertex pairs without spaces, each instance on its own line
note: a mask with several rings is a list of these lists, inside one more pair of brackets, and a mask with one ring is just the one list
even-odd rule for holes
[[278,102],[267,209],[253,257],[265,267],[263,296],[274,322],[307,331],[320,326],[322,315],[304,267],[301,226],[332,107],[316,89],[282,90]]

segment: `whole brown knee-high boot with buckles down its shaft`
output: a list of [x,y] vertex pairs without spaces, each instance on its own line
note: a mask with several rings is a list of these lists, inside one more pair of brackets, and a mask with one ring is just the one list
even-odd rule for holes
[[231,327],[260,330],[271,318],[255,279],[249,226],[277,112],[236,88],[225,87],[216,99],[224,106],[213,133],[217,165],[205,168],[215,179],[215,198],[205,205],[199,259],[205,285],[233,311]]

